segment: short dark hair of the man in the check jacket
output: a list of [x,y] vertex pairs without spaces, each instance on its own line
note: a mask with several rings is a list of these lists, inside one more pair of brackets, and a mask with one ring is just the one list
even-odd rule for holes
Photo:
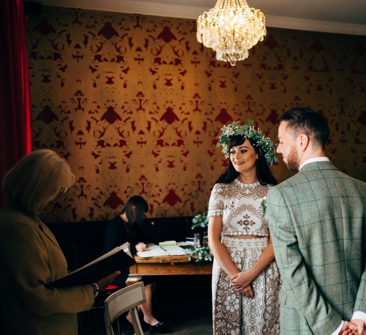
[[288,121],[286,129],[294,136],[306,134],[315,147],[324,149],[329,137],[328,122],[323,115],[309,107],[290,108],[278,118],[278,122]]

